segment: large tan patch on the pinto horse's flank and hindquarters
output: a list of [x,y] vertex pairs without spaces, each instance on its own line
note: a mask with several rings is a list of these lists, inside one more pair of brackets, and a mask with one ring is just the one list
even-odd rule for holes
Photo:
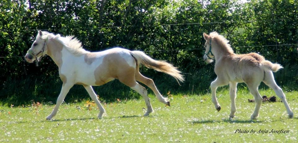
[[114,78],[129,87],[136,85],[135,68],[117,53],[110,53],[103,58],[102,64],[94,71],[94,77],[96,85],[105,84]]

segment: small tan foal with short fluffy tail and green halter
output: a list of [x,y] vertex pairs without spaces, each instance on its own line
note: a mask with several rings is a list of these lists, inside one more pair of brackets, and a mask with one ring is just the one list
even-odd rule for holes
[[215,105],[215,109],[218,111],[221,109],[216,99],[216,88],[229,84],[231,98],[230,118],[233,118],[236,112],[237,83],[244,82],[254,96],[256,103],[251,119],[257,118],[262,103],[262,96],[258,92],[258,87],[263,81],[282,100],[289,118],[293,118],[293,112],[287,103],[286,96],[275,83],[272,73],[281,69],[281,65],[273,64],[257,53],[235,54],[228,44],[228,40],[216,32],[212,32],[210,35],[204,33],[204,38],[206,40],[204,60],[207,63],[211,63],[215,59],[214,71],[217,78],[211,83],[212,102]]

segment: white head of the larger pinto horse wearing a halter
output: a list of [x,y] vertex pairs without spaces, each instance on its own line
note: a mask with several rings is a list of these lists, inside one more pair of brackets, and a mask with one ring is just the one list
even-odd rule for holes
[[33,42],[31,48],[27,51],[25,60],[29,63],[32,63],[34,60],[36,62],[41,59],[43,55],[47,53],[47,36],[44,36],[42,31],[38,31],[35,41]]

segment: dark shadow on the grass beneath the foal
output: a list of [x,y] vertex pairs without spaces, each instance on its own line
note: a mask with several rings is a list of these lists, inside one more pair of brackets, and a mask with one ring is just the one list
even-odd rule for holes
[[222,120],[201,120],[201,121],[192,121],[193,124],[208,124],[208,123],[262,123],[264,121],[259,120],[230,120],[230,119],[222,119]]

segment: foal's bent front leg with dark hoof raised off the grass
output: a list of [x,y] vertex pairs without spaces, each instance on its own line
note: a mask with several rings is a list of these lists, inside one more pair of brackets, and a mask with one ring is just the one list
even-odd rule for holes
[[217,87],[224,86],[227,84],[228,84],[227,81],[224,81],[223,79],[218,78],[218,77],[211,83],[212,102],[215,105],[215,109],[217,111],[220,111],[221,107],[220,107],[220,105],[217,101],[217,98],[216,98],[216,89],[217,89]]

